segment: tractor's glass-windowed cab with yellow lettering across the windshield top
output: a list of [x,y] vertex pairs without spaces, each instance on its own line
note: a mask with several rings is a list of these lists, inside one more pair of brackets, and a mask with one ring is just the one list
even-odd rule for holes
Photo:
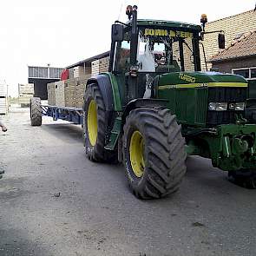
[[132,17],[112,26],[109,71],[122,77],[125,103],[150,97],[157,75],[200,71],[199,25]]

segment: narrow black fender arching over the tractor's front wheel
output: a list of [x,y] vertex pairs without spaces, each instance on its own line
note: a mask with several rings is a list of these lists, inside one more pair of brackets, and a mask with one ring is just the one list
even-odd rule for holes
[[142,98],[138,98],[128,102],[121,116],[121,127],[123,127],[126,121],[126,118],[129,115],[131,110],[135,108],[154,108],[154,107],[166,108],[167,102],[168,102],[167,100],[162,100],[162,99],[142,99]]

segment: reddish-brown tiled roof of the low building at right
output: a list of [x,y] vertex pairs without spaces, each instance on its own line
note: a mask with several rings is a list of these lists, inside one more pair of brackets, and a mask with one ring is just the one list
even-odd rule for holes
[[234,40],[230,46],[213,56],[210,62],[221,62],[246,56],[256,56],[256,29],[246,32],[239,39]]

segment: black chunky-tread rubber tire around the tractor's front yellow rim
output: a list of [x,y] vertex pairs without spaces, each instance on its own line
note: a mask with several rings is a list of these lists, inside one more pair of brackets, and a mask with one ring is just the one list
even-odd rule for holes
[[[128,174],[128,148],[123,148],[129,187],[142,199],[172,194],[178,189],[186,173],[185,140],[181,135],[181,126],[168,109],[137,108],[126,119],[123,141],[128,137],[129,128],[139,122],[143,125],[148,161],[141,178],[143,182],[132,181]],[[128,145],[128,142],[124,145]]]

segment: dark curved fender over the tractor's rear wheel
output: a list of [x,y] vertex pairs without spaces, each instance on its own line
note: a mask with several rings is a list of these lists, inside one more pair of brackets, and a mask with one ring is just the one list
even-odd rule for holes
[[110,79],[107,75],[96,75],[95,77],[89,78],[87,86],[91,83],[96,83],[102,93],[103,102],[107,111],[114,111],[115,104],[112,92],[112,86]]

